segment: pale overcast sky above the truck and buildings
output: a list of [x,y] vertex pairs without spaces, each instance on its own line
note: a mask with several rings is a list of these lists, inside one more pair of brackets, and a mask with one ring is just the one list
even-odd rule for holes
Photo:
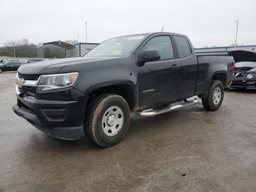
[[256,0],[0,0],[0,43],[27,38],[102,42],[115,36],[186,34],[194,47],[256,44]]

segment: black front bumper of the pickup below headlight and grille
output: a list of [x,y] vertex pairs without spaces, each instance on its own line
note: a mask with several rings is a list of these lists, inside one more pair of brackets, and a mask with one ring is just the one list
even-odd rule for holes
[[[64,91],[72,93],[71,98],[69,97],[71,101],[31,99],[18,95],[18,102],[12,110],[50,136],[78,140],[83,127],[87,97],[74,88]],[[78,98],[76,101],[73,100],[74,96]]]

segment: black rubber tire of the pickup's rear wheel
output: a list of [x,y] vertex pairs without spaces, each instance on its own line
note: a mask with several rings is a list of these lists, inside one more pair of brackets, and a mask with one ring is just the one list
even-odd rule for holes
[[[220,90],[220,93],[218,93],[218,88]],[[217,91],[216,91],[216,89],[217,89]],[[216,91],[220,95],[220,100],[218,103],[216,102],[216,100],[214,101],[214,91]],[[209,89],[207,97],[205,99],[202,98],[202,104],[206,110],[216,111],[220,108],[222,101],[223,101],[223,97],[224,97],[224,87],[223,87],[222,82],[220,82],[219,80],[214,80]],[[218,98],[218,96],[217,96],[217,98]]]

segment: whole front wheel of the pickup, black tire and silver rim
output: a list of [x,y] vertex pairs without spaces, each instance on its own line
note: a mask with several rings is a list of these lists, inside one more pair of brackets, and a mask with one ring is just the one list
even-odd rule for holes
[[94,144],[109,147],[124,138],[129,122],[130,109],[126,100],[116,94],[102,94],[86,110],[84,132]]

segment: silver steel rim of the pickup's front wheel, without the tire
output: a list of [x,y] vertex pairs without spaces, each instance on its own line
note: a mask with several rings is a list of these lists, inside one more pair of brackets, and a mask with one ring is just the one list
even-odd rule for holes
[[124,114],[120,107],[112,106],[106,110],[102,118],[102,130],[107,136],[116,135],[124,123]]

